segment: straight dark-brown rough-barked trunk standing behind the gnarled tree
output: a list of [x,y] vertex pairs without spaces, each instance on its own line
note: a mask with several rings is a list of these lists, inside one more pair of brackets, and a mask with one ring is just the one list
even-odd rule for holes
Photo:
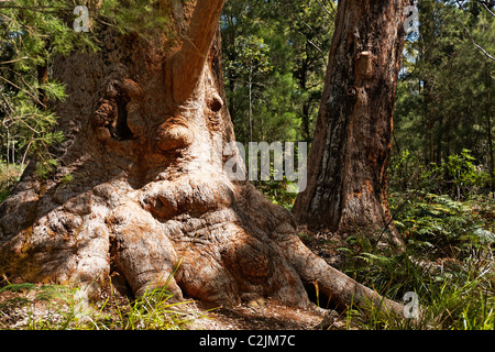
[[294,215],[342,234],[392,230],[386,188],[406,1],[339,1],[308,186]]

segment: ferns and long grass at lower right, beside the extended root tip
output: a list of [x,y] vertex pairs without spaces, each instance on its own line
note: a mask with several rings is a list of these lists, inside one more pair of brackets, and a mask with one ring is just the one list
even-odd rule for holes
[[[448,196],[422,195],[396,216],[406,239],[405,253],[371,252],[363,240],[341,249],[344,273],[396,301],[415,292],[421,306],[418,319],[376,309],[364,317],[350,307],[348,324],[373,330],[495,329],[495,241],[486,235],[494,233],[494,209],[490,198],[459,202]],[[480,229],[485,235],[480,235]]]

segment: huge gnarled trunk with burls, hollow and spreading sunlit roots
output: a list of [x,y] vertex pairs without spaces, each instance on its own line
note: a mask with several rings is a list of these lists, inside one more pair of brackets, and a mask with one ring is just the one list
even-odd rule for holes
[[[234,306],[261,297],[307,306],[307,284],[344,307],[402,314],[312,254],[284,208],[232,180],[234,141],[221,77],[224,0],[172,1],[174,36],[102,33],[105,50],[54,66],[69,97],[57,108],[67,142],[59,167],[28,169],[0,208],[0,274],[97,290],[112,273],[135,295],[163,285],[177,298]],[[175,42],[174,42],[175,43]],[[72,177],[64,177],[66,175]]]

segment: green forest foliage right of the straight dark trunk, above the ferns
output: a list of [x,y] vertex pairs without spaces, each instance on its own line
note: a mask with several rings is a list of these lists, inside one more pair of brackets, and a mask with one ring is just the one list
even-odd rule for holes
[[426,189],[458,199],[487,194],[495,62],[474,43],[495,53],[495,18],[476,1],[425,0],[418,8],[419,33],[406,40],[397,87],[391,174],[400,177],[392,186],[429,187],[429,179]]

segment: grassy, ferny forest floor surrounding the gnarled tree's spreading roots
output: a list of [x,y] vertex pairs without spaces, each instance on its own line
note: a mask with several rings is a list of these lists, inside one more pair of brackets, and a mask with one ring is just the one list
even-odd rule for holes
[[[413,261],[408,255],[388,257],[386,253],[356,250],[355,238],[344,241],[330,232],[311,233],[298,229],[301,241],[315,254],[358,282],[386,293],[387,297],[391,295],[391,299],[400,299],[406,290],[417,292],[421,305],[425,304],[429,316],[435,318],[420,320],[417,326],[411,324],[411,319],[400,322],[374,318],[369,323],[352,307],[339,315],[327,306],[326,297],[316,295],[311,286],[307,289],[315,305],[307,309],[287,307],[274,299],[227,309],[206,307],[195,300],[174,304],[165,297],[166,290],[132,300],[119,285],[119,277],[114,276],[99,297],[82,304],[76,299],[76,289],[10,284],[0,277],[0,330],[490,330],[495,322],[495,252],[493,245],[480,242],[476,231],[480,227],[493,231],[494,204],[466,204],[455,210],[458,207],[460,204],[452,201],[446,206],[418,200],[399,219],[403,224],[414,224],[405,233],[409,245],[419,248],[414,253],[420,261]],[[436,235],[432,230],[439,231],[438,219],[444,228]],[[463,219],[466,220],[461,221]],[[428,242],[419,237],[425,229],[431,230]],[[475,230],[471,237],[465,237],[470,229]],[[493,235],[490,231],[480,233]],[[427,250],[424,250],[427,243]],[[424,255],[419,256],[421,253]]]

